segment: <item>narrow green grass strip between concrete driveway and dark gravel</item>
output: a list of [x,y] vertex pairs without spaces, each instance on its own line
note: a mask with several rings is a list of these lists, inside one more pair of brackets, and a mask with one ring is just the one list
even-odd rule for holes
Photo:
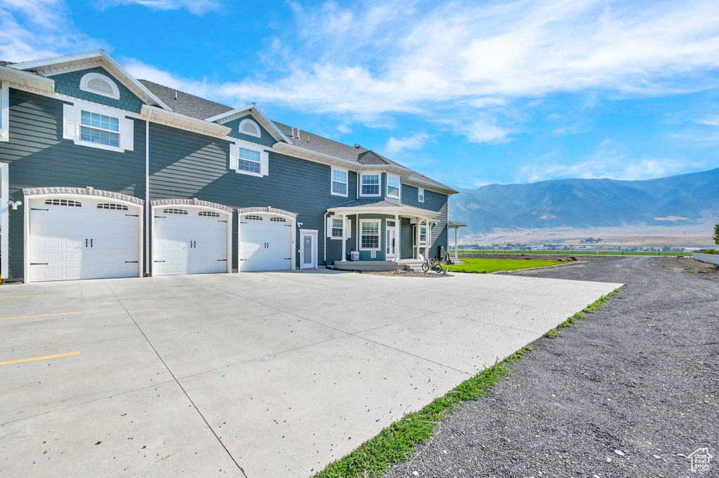
[[[559,329],[570,327],[577,322],[577,319],[583,319],[587,317],[587,314],[593,314],[619,291],[620,289],[615,289],[609,294],[601,296],[585,307],[583,311],[568,317],[556,329],[549,330],[544,334],[544,337],[554,338],[561,336]],[[461,408],[462,403],[468,400],[477,400],[477,398],[487,395],[490,388],[493,388],[509,374],[509,364],[521,360],[524,355],[531,351],[531,345],[526,345],[501,362],[496,362],[491,367],[485,367],[485,370],[478,375],[460,383],[443,397],[435,398],[420,411],[408,413],[399,421],[392,423],[387,428],[383,428],[380,434],[359,445],[349,455],[332,461],[315,477],[382,477],[393,464],[410,458],[416,445],[429,440],[434,434],[437,422],[444,418],[446,414],[457,411]]]

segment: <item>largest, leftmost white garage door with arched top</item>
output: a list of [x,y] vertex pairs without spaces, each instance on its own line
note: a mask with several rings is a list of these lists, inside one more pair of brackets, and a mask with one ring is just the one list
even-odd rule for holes
[[29,207],[30,281],[139,276],[139,207],[106,198]]

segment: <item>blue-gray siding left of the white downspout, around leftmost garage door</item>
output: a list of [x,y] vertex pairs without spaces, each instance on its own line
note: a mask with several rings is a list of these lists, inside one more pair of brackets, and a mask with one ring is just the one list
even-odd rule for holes
[[10,199],[24,205],[9,214],[11,277],[23,276],[24,187],[86,187],[145,196],[145,122],[134,121],[134,151],[78,146],[63,139],[65,102],[10,90],[10,140],[0,142],[0,161],[9,164]]

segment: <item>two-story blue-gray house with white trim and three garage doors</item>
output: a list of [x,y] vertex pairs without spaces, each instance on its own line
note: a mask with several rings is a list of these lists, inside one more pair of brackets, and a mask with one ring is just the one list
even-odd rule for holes
[[3,278],[400,268],[446,251],[457,191],[254,103],[136,80],[103,51],[0,62],[0,92]]

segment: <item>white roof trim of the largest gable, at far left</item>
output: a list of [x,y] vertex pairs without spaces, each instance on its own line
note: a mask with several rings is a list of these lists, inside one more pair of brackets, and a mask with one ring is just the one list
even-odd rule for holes
[[[92,63],[100,62],[109,72],[118,80],[124,83],[132,93],[139,96],[145,103],[153,106],[160,106],[165,110],[170,108],[157,98],[157,96],[148,90],[145,85],[130,75],[118,62],[113,60],[105,50],[95,50],[93,52],[78,53],[77,55],[65,55],[63,57],[46,58],[45,60],[33,60],[30,62],[12,63],[7,65],[15,70],[32,71],[43,76],[55,75],[63,71],[73,68],[73,65],[82,64],[82,62]],[[96,65],[87,65],[88,67]],[[75,70],[77,68],[74,68]],[[171,111],[171,110],[170,110]]]

